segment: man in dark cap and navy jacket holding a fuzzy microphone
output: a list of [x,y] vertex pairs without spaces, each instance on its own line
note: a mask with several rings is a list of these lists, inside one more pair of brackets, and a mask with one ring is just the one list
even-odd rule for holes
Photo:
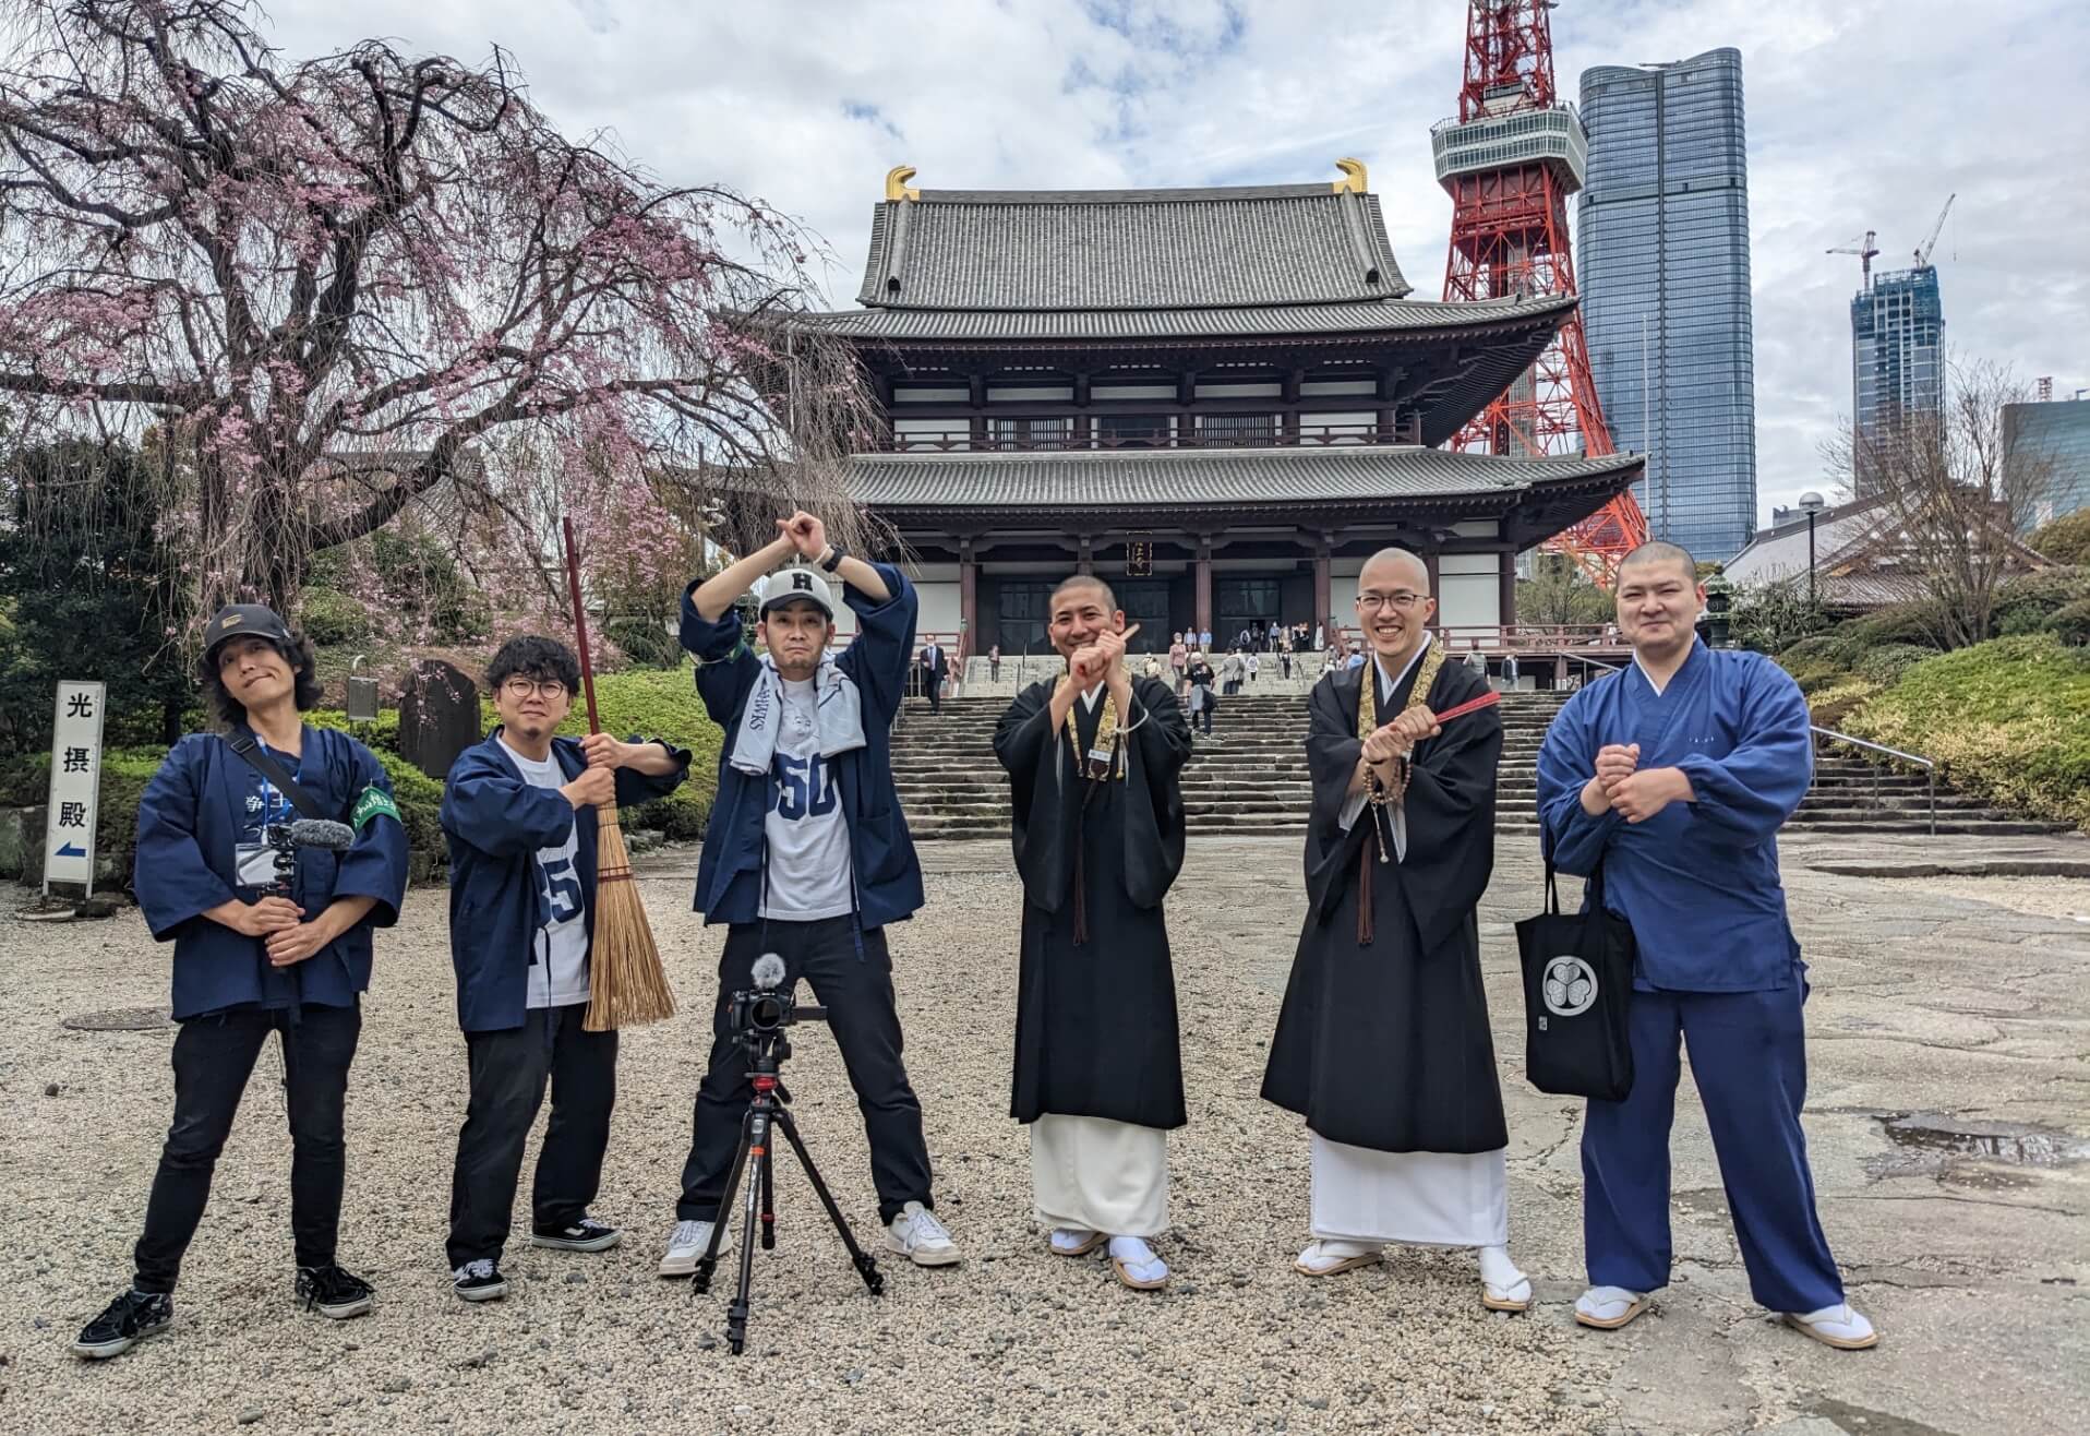
[[372,1306],[370,1283],[334,1260],[343,1108],[370,934],[405,895],[405,830],[370,748],[299,717],[320,702],[303,638],[261,604],[232,604],[205,644],[199,675],[228,732],[182,738],[138,801],[138,907],[173,943],[173,1122],[136,1275],[73,1342],[82,1357],[173,1321],[182,1254],[270,1033],[291,1114],[297,1300],[336,1319]]

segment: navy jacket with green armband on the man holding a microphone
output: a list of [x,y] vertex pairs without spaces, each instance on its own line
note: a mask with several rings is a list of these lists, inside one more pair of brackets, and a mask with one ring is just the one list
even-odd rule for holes
[[173,943],[176,1020],[232,1007],[353,1007],[370,987],[372,928],[399,920],[408,842],[376,755],[347,734],[305,727],[297,759],[274,757],[326,815],[355,828],[347,851],[297,851],[293,899],[305,918],[336,897],[376,901],[362,922],[288,968],[270,966],[261,939],[205,918],[222,903],[261,895],[272,876],[257,861],[261,830],[297,813],[226,738],[188,734],[138,798],[134,876],[146,926]]

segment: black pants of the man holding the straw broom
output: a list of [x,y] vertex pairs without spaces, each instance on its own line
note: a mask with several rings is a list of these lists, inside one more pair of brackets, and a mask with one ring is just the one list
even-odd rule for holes
[[522,1145],[552,1083],[552,1120],[531,1181],[531,1221],[566,1227],[602,1185],[617,1106],[617,1033],[587,1033],[587,1003],[531,1007],[522,1026],[466,1033],[472,1102],[449,1175],[449,1267],[500,1260],[516,1206]]

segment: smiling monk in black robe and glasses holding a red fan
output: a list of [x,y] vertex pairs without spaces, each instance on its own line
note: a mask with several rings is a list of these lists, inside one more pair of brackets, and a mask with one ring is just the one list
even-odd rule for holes
[[1524,1311],[1476,920],[1503,723],[1492,707],[1436,721],[1488,681],[1434,644],[1415,554],[1373,554],[1356,610],[1371,661],[1308,698],[1306,924],[1262,1076],[1313,1133],[1315,1240],[1296,1267],[1350,1271],[1388,1242],[1476,1246],[1482,1302]]

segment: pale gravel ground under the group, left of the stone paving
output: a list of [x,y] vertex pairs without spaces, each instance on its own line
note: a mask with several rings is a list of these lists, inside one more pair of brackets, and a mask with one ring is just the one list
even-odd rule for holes
[[[8,924],[0,1200],[17,1240],[0,1250],[8,1292],[0,1430],[1095,1434],[1616,1423],[1605,1348],[1570,1323],[1580,1252],[1565,1223],[1515,1237],[1513,1250],[1540,1277],[1530,1317],[1484,1313],[1465,1252],[1400,1252],[1379,1271],[1325,1283],[1290,1271],[1306,1229],[1306,1143],[1256,1089],[1302,903],[1294,842],[1260,844],[1246,870],[1239,853],[1193,853],[1170,897],[1191,1095],[1189,1127],[1170,1152],[1177,1229],[1160,1242],[1175,1288],[1141,1296],[1120,1290],[1101,1258],[1049,1256],[1030,1221],[1024,1131],[1007,1118],[1020,888],[1005,849],[951,853],[959,857],[932,857],[928,907],[895,928],[892,949],[938,1210],[968,1260],[953,1271],[884,1263],[886,1294],[867,1298],[786,1162],[782,1240],[757,1254],[742,1359],[721,1344],[723,1296],[692,1300],[688,1286],[654,1275],[719,951],[719,934],[688,911],[683,872],[642,884],[683,1012],[625,1035],[596,1206],[627,1225],[623,1248],[579,1256],[510,1246],[506,1302],[466,1306],[451,1296],[441,1242],[464,1045],[443,895],[422,890],[399,930],[380,936],[349,1091],[341,1256],[376,1283],[378,1311],[328,1323],[291,1300],[288,1141],[268,1081],[276,1060],[263,1056],[190,1248],[176,1327],[96,1365],[77,1363],[67,1344],[127,1275],[171,1104],[171,1028],[75,1033],[59,1022],[163,1003],[165,953],[134,911],[100,924]],[[686,865],[690,855],[667,861]],[[1509,903],[1528,911],[1536,882],[1519,874],[1517,886]],[[1490,989],[1496,1026],[1509,1030],[1517,1014],[1499,945],[1490,939]],[[1522,1041],[1499,1051],[1507,1085]],[[859,1235],[880,1235],[863,1131],[832,1041],[807,1030],[788,1079],[813,1154]],[[518,1227],[527,1231],[527,1202]]]

